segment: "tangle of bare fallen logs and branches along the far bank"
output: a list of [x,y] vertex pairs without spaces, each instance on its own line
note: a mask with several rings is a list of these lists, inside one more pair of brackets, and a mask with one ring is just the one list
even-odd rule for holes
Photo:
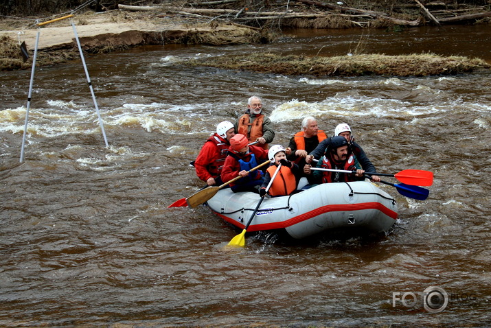
[[[286,3],[277,7],[275,10],[253,10],[251,8],[228,9],[234,8],[233,4],[239,4],[239,0],[221,0],[197,3],[185,3],[180,7],[168,5],[159,6],[135,6],[119,4],[121,10],[130,11],[155,11],[159,10],[165,14],[177,14],[190,16],[194,18],[208,19],[210,21],[227,21],[231,23],[240,23],[242,25],[262,27],[266,23],[275,23],[279,26],[293,27],[381,27],[390,25],[404,26],[421,26],[421,25],[442,25],[456,23],[473,23],[480,19],[491,17],[490,5],[472,6],[448,9],[444,3],[422,3],[423,0],[414,0],[413,8],[418,14],[412,18],[409,15],[402,15],[393,12],[388,14],[374,10],[360,8],[350,8],[342,0],[333,3],[326,3],[317,0],[296,0],[295,2]],[[268,1],[266,1],[267,3]],[[409,5],[406,5],[407,7]],[[225,8],[224,8],[225,7]],[[267,7],[267,6],[266,6]],[[237,8],[237,6],[235,6]],[[270,7],[271,8],[271,7]],[[292,8],[295,8],[293,10]],[[430,9],[429,9],[430,8]],[[402,16],[406,16],[401,18]],[[343,24],[333,26],[333,19],[343,21]],[[293,21],[303,20],[303,25],[293,23]],[[324,22],[322,23],[305,23],[306,21]],[[297,26],[295,26],[297,25]]]

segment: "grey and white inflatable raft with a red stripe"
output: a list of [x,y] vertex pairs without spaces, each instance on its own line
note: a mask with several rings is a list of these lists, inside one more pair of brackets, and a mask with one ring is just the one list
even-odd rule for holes
[[[207,205],[223,220],[244,229],[259,201],[258,194],[234,194],[226,188]],[[391,229],[397,217],[396,200],[372,183],[325,183],[264,199],[247,232],[284,229],[295,239],[334,231],[381,233]]]

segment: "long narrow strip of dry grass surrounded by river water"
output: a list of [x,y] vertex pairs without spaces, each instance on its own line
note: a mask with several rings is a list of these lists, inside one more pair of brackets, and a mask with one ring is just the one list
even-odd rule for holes
[[407,56],[358,54],[335,57],[252,54],[229,58],[193,60],[187,63],[194,66],[255,71],[258,73],[313,75],[316,77],[453,75],[491,69],[491,65],[481,59],[470,59],[463,56],[442,57],[435,54],[413,54]]

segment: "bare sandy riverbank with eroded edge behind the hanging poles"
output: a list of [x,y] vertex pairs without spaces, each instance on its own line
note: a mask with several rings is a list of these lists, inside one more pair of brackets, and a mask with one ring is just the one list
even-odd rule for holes
[[[156,18],[155,15],[125,12],[89,12],[75,16],[80,45],[86,54],[124,50],[139,45],[203,44],[236,45],[269,43],[273,36],[267,30],[233,25],[187,21],[175,17]],[[36,66],[54,65],[80,58],[75,33],[69,19],[39,29],[22,30],[16,21],[1,21],[0,70],[28,69],[39,31]],[[21,32],[21,34],[19,34]],[[29,60],[23,60],[19,40],[25,41]]]

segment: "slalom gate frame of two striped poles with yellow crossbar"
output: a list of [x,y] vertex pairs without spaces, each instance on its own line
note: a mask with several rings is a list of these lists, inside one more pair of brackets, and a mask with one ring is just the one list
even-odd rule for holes
[[24,161],[25,137],[27,134],[27,123],[29,121],[29,110],[30,110],[31,98],[32,98],[32,85],[34,84],[34,71],[36,70],[36,58],[38,55],[39,34],[40,34],[40,28],[39,27],[41,27],[43,25],[47,25],[49,23],[54,23],[56,21],[61,21],[62,19],[70,19],[70,21],[71,21],[71,26],[73,27],[73,34],[75,34],[75,38],[77,41],[77,47],[78,47],[78,50],[80,51],[80,58],[82,58],[82,64],[84,65],[84,71],[85,71],[85,75],[87,76],[87,83],[89,84],[89,89],[91,91],[92,99],[93,99],[94,106],[95,106],[95,111],[98,115],[99,125],[100,125],[100,128],[102,130],[102,136],[104,137],[104,143],[106,143],[106,147],[109,147],[109,143],[107,142],[107,138],[106,138],[106,131],[104,130],[104,124],[102,123],[102,118],[100,116],[99,106],[98,106],[97,100],[95,99],[95,93],[94,93],[94,90],[92,87],[92,82],[91,82],[91,78],[89,75],[89,71],[87,70],[87,65],[85,64],[82,46],[80,45],[80,40],[78,38],[75,23],[73,23],[73,20],[71,19],[71,17],[73,17],[73,14],[69,14],[67,16],[59,17],[58,19],[52,19],[51,21],[45,21],[43,23],[37,24],[38,31],[36,34],[36,45],[34,46],[34,57],[32,58],[31,80],[29,83],[29,93],[27,94],[27,108],[25,110],[24,133],[23,133],[23,137],[22,137],[21,159],[20,159],[21,163]]

